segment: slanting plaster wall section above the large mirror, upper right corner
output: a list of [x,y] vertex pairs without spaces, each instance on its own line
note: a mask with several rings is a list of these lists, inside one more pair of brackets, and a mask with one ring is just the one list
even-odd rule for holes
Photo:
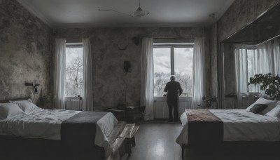
[[235,34],[279,2],[280,0],[235,0],[218,21],[218,41]]

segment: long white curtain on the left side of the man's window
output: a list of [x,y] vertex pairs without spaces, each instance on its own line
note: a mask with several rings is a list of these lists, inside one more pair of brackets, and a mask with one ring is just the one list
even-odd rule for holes
[[153,119],[153,39],[142,40],[140,105],[146,106],[145,120]]

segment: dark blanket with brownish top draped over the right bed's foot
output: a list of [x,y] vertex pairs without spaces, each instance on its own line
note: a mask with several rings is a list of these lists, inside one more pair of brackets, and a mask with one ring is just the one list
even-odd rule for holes
[[188,145],[218,145],[223,142],[223,121],[207,109],[187,109]]

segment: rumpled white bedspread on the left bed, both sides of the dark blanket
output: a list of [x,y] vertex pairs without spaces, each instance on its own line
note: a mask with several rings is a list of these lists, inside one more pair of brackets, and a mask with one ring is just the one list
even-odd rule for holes
[[[43,138],[60,140],[62,121],[78,114],[80,111],[62,109],[34,109],[29,114],[21,114],[0,120],[0,135],[17,135],[24,138]],[[95,145],[106,147],[108,135],[113,131],[118,120],[112,113],[105,114],[97,121]]]

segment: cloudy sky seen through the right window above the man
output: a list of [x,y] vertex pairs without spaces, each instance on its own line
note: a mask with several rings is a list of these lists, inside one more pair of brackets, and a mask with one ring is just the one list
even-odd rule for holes
[[[171,73],[170,48],[154,48],[154,72]],[[193,48],[174,48],[175,72],[193,76]]]

